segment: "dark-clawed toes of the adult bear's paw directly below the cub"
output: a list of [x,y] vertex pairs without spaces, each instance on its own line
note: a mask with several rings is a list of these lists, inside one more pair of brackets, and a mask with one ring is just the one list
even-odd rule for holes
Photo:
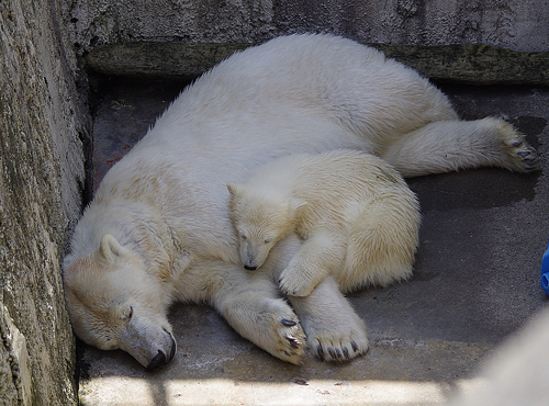
[[341,362],[366,353],[369,346],[361,322],[344,328],[311,328],[307,330],[307,345],[311,352],[321,360]]

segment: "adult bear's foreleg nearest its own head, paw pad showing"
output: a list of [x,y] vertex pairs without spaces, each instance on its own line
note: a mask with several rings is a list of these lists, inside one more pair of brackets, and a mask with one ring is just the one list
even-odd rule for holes
[[299,364],[305,336],[291,306],[280,297],[272,275],[246,272],[238,266],[206,261],[188,275],[194,292],[212,304],[243,337],[272,356]]

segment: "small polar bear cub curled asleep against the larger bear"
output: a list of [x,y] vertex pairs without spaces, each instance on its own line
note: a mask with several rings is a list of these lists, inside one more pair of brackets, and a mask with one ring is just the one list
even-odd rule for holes
[[296,154],[227,184],[244,268],[295,233],[303,241],[280,289],[307,296],[327,275],[343,292],[412,274],[421,223],[415,194],[389,163],[356,150]]

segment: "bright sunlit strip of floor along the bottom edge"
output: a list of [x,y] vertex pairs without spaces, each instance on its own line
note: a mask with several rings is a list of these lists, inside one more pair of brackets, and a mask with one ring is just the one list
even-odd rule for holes
[[[131,377],[102,377],[101,391],[91,380],[83,405],[442,405],[456,392],[477,388],[479,380],[453,384],[396,381],[306,381],[239,382],[232,380],[146,381]],[[109,382],[111,381],[111,382]],[[92,395],[91,395],[92,394]],[[90,396],[91,395],[91,396]]]

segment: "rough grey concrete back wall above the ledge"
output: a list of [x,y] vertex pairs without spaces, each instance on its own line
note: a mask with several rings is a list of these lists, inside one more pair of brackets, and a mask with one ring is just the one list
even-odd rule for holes
[[547,0],[74,0],[67,24],[82,50],[141,40],[262,42],[296,32],[549,49]]

